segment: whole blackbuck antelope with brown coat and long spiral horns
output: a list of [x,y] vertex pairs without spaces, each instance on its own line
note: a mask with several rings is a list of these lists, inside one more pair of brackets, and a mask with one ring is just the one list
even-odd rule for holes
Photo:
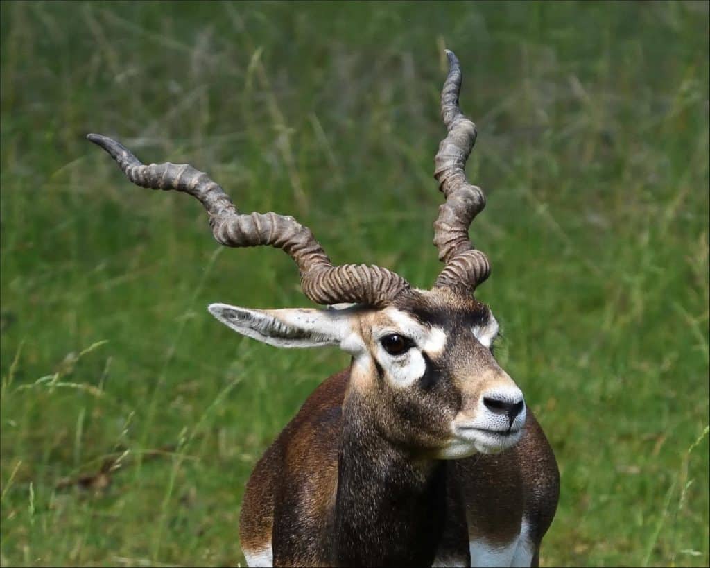
[[212,304],[214,317],[278,347],[351,354],[256,464],[240,523],[250,566],[538,564],[559,474],[523,393],[493,357],[496,318],[472,295],[489,272],[469,241],[486,200],[464,174],[476,126],[461,114],[461,70],[447,56],[448,134],[434,174],[446,197],[434,223],[445,266],[431,290],[378,266],[333,266],[293,217],[240,214],[190,165],[143,165],[111,138],[88,136],[136,185],[197,197],[219,243],[283,249],[305,295],[329,306]]

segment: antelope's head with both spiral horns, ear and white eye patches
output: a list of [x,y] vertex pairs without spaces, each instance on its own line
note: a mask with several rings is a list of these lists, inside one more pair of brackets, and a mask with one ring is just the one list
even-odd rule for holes
[[143,165],[111,138],[87,137],[134,184],[200,200],[219,243],[283,249],[300,271],[305,295],[328,306],[253,310],[212,304],[214,317],[274,346],[339,346],[353,360],[344,407],[358,400],[378,432],[412,454],[456,459],[499,452],[518,442],[525,403],[493,357],[496,318],[473,296],[490,271],[486,255],[469,241],[469,225],[486,198],[464,173],[476,126],[459,109],[459,62],[451,51],[447,57],[442,119],[448,133],[435,157],[435,178],[446,201],[434,223],[434,244],[444,268],[430,290],[413,288],[386,268],[334,266],[310,229],[293,217],[241,214],[222,187],[190,165]]

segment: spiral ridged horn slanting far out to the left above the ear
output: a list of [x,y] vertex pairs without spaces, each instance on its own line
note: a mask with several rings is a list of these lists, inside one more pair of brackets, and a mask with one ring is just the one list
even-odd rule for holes
[[185,192],[202,203],[217,242],[225,246],[274,246],[295,261],[301,287],[322,305],[355,302],[379,307],[410,288],[404,278],[379,266],[333,266],[310,229],[293,217],[273,212],[240,214],[222,187],[187,164],[143,165],[120,143],[89,134],[87,138],[116,160],[131,182],[153,190]]

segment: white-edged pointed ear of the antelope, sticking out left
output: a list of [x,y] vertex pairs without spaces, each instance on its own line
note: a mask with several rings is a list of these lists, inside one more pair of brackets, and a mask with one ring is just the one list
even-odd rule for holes
[[350,334],[344,310],[251,310],[227,304],[210,304],[208,310],[235,332],[277,347],[337,345]]

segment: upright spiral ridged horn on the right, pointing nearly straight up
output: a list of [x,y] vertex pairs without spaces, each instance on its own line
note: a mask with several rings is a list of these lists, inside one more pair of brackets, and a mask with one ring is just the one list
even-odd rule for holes
[[466,180],[464,168],[476,143],[476,125],[459,108],[459,60],[452,51],[446,50],[446,55],[449,75],[442,89],[442,119],[448,134],[434,158],[434,177],[446,197],[434,222],[434,244],[439,249],[439,260],[446,266],[435,286],[475,290],[491,272],[486,255],[475,250],[469,240],[469,226],[486,207],[486,196],[480,187]]

